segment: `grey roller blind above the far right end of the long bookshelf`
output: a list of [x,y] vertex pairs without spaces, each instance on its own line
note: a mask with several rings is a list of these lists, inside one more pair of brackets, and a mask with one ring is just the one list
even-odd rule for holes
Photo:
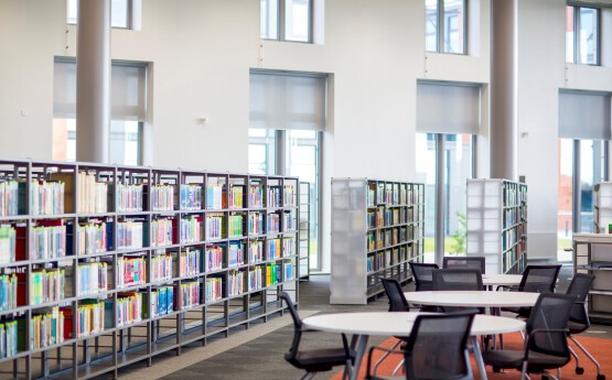
[[249,82],[251,128],[325,129],[325,76],[251,72]]

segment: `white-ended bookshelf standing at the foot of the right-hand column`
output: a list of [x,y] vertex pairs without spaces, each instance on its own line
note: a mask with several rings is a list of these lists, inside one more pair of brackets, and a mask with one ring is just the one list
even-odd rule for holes
[[484,256],[486,273],[520,274],[527,264],[527,185],[468,180],[468,256]]

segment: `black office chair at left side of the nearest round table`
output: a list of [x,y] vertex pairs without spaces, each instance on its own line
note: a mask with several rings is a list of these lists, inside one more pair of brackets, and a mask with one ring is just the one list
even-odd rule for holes
[[[329,371],[333,367],[344,366],[343,378],[348,377],[351,368],[355,361],[355,351],[348,347],[346,336],[342,334],[343,348],[324,348],[324,349],[300,349],[302,333],[307,332],[302,328],[302,319],[298,315],[291,298],[287,292],[280,293],[280,298],[284,300],[289,314],[293,318],[293,341],[289,351],[284,354],[284,360],[289,361],[293,367],[303,369],[307,373],[301,378],[312,379],[316,372]],[[357,369],[355,369],[357,370]]]

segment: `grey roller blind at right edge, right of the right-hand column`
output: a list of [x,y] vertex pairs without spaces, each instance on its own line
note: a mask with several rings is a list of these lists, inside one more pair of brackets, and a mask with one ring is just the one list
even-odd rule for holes
[[610,94],[559,91],[559,138],[610,140]]

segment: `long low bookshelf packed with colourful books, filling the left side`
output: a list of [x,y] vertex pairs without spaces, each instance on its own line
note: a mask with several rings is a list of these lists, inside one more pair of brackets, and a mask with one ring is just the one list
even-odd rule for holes
[[298,300],[296,177],[0,161],[0,378],[86,379]]

